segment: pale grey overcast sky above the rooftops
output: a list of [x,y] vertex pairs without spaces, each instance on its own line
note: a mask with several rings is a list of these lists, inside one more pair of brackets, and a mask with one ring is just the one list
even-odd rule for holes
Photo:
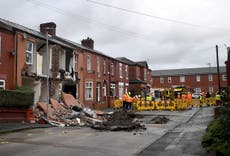
[[57,35],[112,57],[148,62],[150,69],[220,65],[230,46],[229,0],[1,0],[1,18]]

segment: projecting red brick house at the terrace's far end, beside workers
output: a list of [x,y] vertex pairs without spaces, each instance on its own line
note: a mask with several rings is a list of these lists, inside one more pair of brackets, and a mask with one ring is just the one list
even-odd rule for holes
[[152,87],[151,69],[146,61],[134,62],[125,57],[118,60],[128,64],[129,67],[129,92],[132,96],[140,95],[145,97]]

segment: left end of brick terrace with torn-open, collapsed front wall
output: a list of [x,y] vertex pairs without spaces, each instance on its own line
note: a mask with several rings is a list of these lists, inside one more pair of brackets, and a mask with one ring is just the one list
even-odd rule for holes
[[[75,47],[57,39],[55,23],[41,24],[40,29],[38,32],[0,19],[0,87],[12,90],[16,86],[29,86],[35,91],[34,104],[47,102],[48,96],[58,99],[65,85],[76,88],[78,79]],[[9,110],[8,113],[3,110],[0,119],[9,114]],[[23,119],[23,113],[14,110],[13,114]]]

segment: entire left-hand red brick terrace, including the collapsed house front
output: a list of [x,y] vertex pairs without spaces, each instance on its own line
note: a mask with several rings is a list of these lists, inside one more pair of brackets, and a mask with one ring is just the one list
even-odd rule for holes
[[53,22],[40,32],[0,19],[0,87],[29,86],[34,103],[70,93],[86,106],[110,107],[125,92],[145,95],[151,87],[146,61],[113,58],[94,49],[94,41],[81,44],[56,35]]

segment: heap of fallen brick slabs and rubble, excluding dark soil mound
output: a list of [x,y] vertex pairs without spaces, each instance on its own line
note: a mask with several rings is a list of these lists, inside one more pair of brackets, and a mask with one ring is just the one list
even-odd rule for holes
[[91,126],[106,121],[103,112],[84,107],[71,94],[62,93],[62,100],[63,103],[59,103],[51,98],[49,105],[38,102],[34,115],[40,121],[43,120],[51,125],[61,127]]

